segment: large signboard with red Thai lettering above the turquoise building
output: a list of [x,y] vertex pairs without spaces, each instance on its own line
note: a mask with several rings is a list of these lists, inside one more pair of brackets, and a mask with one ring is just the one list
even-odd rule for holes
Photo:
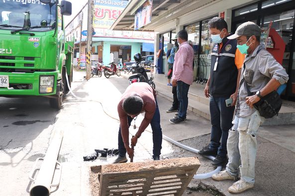
[[127,0],[94,0],[93,27],[108,29],[127,6]]

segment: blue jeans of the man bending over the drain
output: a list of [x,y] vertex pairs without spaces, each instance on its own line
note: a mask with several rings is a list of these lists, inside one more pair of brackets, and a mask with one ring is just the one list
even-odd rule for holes
[[[127,118],[128,118],[128,127],[130,127],[133,119],[130,116],[127,116]],[[160,111],[159,111],[157,100],[156,100],[156,111],[150,124],[153,131],[153,144],[154,144],[153,158],[155,158],[157,156],[160,156],[161,149],[162,149],[162,129],[160,125]],[[118,134],[118,150],[119,150],[119,155],[121,157],[126,155],[126,149],[125,149],[124,142],[121,135],[121,126],[119,127],[119,134]]]

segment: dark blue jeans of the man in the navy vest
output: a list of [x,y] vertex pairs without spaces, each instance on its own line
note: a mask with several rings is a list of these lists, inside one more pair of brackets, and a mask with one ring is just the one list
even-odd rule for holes
[[210,115],[212,125],[210,148],[218,150],[217,154],[222,157],[226,157],[227,154],[226,143],[228,131],[232,127],[232,118],[235,109],[234,106],[226,107],[225,100],[228,98],[213,96],[210,98]]

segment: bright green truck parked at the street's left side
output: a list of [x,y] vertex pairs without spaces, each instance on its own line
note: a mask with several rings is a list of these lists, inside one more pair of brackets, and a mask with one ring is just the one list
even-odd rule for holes
[[60,109],[73,78],[66,0],[0,0],[0,97],[45,96]]

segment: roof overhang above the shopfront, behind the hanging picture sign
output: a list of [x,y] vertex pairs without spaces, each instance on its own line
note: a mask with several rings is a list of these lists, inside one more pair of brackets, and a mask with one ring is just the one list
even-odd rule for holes
[[[135,12],[145,1],[130,0],[110,29],[134,31]],[[139,31],[154,31],[157,27],[213,1],[215,0],[153,0],[152,21]]]

